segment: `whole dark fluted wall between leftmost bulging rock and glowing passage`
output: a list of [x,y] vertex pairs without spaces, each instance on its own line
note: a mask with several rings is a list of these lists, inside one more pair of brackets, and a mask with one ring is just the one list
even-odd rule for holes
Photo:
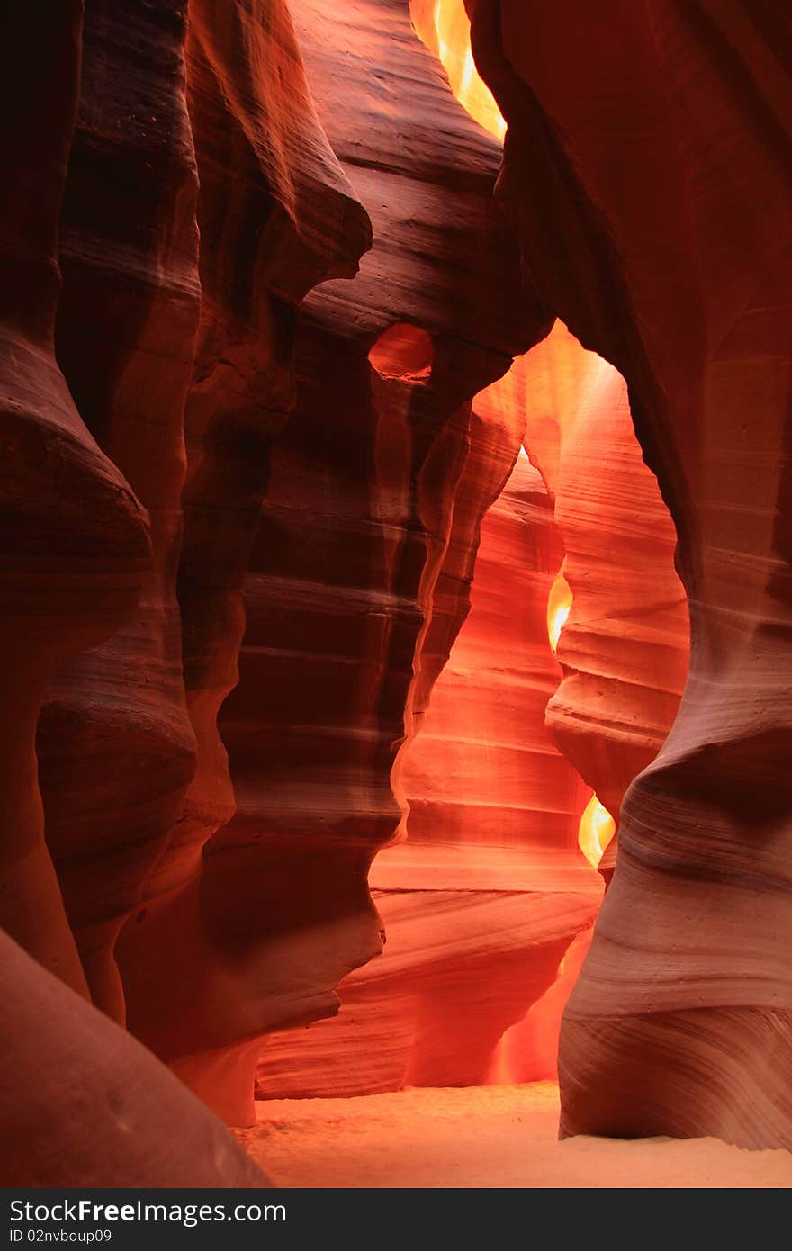
[[[61,214],[59,359],[148,507],[154,565],[50,688],[49,847],[95,1002],[234,1121],[260,1036],[332,1012],[379,948],[367,872],[400,821],[394,753],[519,445],[479,423],[472,458],[470,399],[549,324],[492,199],[498,146],[408,6],[355,5],[334,40],[297,14],[330,143],[284,6],[163,0],[130,25],[89,4]],[[354,274],[362,200],[377,245],[308,300],[295,388],[294,306]],[[229,781],[215,718],[248,563]]]

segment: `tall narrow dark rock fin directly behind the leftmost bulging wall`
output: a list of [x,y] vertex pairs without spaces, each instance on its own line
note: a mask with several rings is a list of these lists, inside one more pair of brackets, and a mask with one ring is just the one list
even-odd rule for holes
[[151,519],[134,617],[51,683],[38,736],[48,844],[91,996],[124,1020],[114,958],[194,771],[175,570],[198,318],[184,6],[89,0],[55,347],[89,428]]

